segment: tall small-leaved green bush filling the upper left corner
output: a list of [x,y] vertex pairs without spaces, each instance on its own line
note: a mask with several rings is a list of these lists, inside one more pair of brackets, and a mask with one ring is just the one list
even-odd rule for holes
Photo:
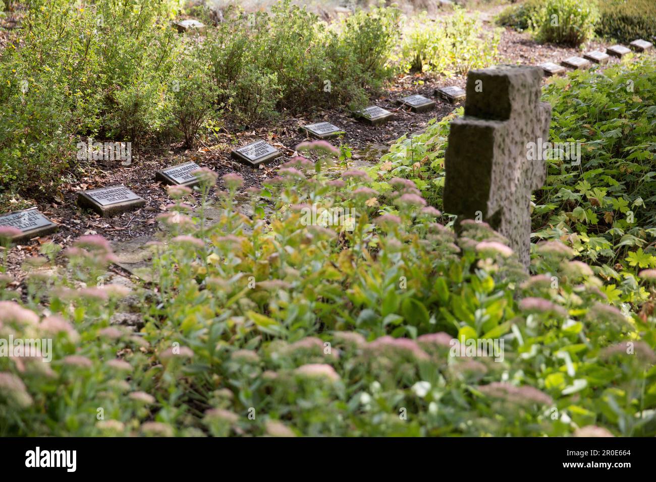
[[177,45],[161,23],[168,8],[163,0],[101,0],[93,9],[32,3],[24,46],[10,45],[0,57],[9,73],[0,87],[3,188],[52,193],[76,138],[137,144],[167,129],[159,94]]

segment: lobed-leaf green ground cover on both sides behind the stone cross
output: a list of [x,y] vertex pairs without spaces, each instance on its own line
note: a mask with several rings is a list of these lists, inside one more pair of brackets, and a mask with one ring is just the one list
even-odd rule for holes
[[[548,84],[544,100],[554,109],[550,141],[580,142],[582,157],[581,165],[547,161],[546,186],[535,193],[533,207],[535,241],[565,241],[607,280],[609,299],[638,306],[648,297],[638,272],[653,268],[656,232],[655,82],[654,62],[647,59]],[[375,168],[380,179],[409,178],[440,209],[449,120],[401,138]]]

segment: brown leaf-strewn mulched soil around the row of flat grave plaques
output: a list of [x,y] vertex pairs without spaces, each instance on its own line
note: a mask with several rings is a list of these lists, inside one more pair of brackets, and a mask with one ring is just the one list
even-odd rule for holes
[[[492,28],[486,24],[486,29]],[[6,42],[7,35],[3,36],[0,30],[0,43]],[[590,42],[584,45],[584,51],[602,50],[608,44]],[[581,49],[560,47],[555,45],[541,45],[533,41],[527,33],[518,33],[506,30],[499,47],[502,63],[507,64],[539,64],[541,62],[554,62],[573,55],[582,56]],[[611,58],[611,64],[617,62]],[[201,146],[197,151],[186,151],[176,146],[169,146],[170,150],[164,152],[141,152],[138,159],[130,166],[122,166],[119,161],[116,165],[89,166],[89,174],[75,184],[63,186],[58,199],[35,199],[35,205],[46,216],[60,224],[59,230],[49,239],[37,239],[10,249],[7,263],[9,272],[14,276],[14,285],[24,277],[20,265],[28,256],[37,254],[39,244],[45,241],[54,241],[66,247],[77,237],[84,234],[99,234],[110,241],[126,241],[138,237],[150,237],[157,231],[155,216],[165,211],[170,199],[163,187],[154,180],[154,173],[158,169],[170,167],[186,161],[195,161],[201,166],[207,166],[218,172],[219,176],[227,172],[238,172],[243,176],[245,185],[261,186],[262,180],[275,175],[277,167],[295,153],[295,146],[306,140],[298,132],[298,127],[307,123],[329,121],[346,131],[343,142],[348,144],[354,153],[353,162],[356,165],[371,165],[376,157],[384,153],[396,139],[403,134],[411,134],[425,129],[430,119],[441,119],[450,113],[455,106],[440,98],[434,98],[433,92],[437,87],[457,85],[464,88],[466,77],[459,76],[451,79],[435,77],[433,75],[415,74],[399,75],[388,85],[386,90],[371,104],[376,104],[396,114],[394,121],[379,127],[371,127],[354,119],[345,108],[336,110],[317,110],[304,115],[292,116],[287,113],[274,123],[262,125],[255,129],[242,132],[218,134],[213,140],[213,146]],[[398,108],[396,99],[410,94],[422,94],[436,100],[434,110],[425,113],[411,113]],[[285,154],[260,169],[242,165],[230,158],[230,151],[236,146],[243,146],[249,142],[262,138],[283,151]],[[146,199],[146,207],[137,211],[126,212],[112,218],[101,218],[90,211],[79,209],[76,205],[77,191],[124,184],[138,195]],[[219,178],[218,188],[221,189],[222,180]]]

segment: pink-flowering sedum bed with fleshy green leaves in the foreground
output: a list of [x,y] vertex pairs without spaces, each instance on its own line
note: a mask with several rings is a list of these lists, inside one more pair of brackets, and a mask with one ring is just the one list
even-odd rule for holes
[[[98,285],[113,255],[97,236],[66,253],[73,279],[43,271],[44,245],[0,331],[56,335],[53,361],[0,358],[3,435],[656,433],[653,317],[615,308],[573,249],[541,243],[529,276],[485,224],[456,237],[407,178],[340,174],[335,148],[299,148],[321,161],[249,191],[250,217],[237,174],[213,225],[171,188],[150,286]],[[216,174],[199,176],[209,204]],[[331,216],[305,222],[312,205]],[[110,325],[126,296],[139,336]],[[453,356],[454,337],[503,339],[502,359]]]

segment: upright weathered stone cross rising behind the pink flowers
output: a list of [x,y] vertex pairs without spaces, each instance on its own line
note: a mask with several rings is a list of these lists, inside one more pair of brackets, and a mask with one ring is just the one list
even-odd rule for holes
[[445,153],[445,211],[457,214],[457,228],[463,219],[489,223],[508,238],[524,266],[531,191],[546,178],[543,157],[528,155],[529,143],[546,142],[549,134],[551,106],[540,102],[542,77],[541,68],[531,66],[471,70],[464,117],[451,122]]

